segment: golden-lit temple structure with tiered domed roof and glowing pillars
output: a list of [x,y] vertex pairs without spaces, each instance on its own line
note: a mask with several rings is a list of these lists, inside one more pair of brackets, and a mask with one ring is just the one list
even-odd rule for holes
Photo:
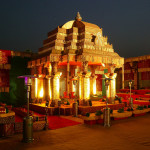
[[88,106],[91,95],[105,90],[104,78],[110,78],[107,90],[109,103],[116,94],[116,68],[124,58],[114,52],[102,28],[82,21],[79,13],[75,20],[50,31],[38,56],[28,62],[32,79],[33,102],[49,101],[58,106],[61,98],[78,98],[79,105]]

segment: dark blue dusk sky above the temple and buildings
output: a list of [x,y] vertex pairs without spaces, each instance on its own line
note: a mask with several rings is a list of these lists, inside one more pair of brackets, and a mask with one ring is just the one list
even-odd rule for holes
[[77,11],[103,28],[120,56],[150,54],[150,0],[0,0],[0,49],[38,52]]

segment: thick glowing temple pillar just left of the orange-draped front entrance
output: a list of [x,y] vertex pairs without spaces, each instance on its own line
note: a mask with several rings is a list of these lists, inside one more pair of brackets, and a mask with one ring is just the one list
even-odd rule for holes
[[58,106],[60,100],[60,76],[61,72],[57,72],[58,62],[52,62],[52,76],[51,76],[51,107]]

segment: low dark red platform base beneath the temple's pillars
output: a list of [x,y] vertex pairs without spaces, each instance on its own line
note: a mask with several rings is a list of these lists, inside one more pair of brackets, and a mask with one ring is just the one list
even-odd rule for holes
[[[38,112],[40,114],[47,114],[48,115],[64,115],[69,116],[72,115],[72,105],[61,105],[61,107],[45,107],[45,103],[42,104],[30,104],[30,110]],[[87,112],[94,113],[97,110],[101,110],[106,107],[106,104],[100,102],[93,102],[93,106],[79,106],[78,107],[78,114],[85,114]],[[119,108],[125,107],[124,103],[119,104],[108,104],[108,107],[117,110]]]

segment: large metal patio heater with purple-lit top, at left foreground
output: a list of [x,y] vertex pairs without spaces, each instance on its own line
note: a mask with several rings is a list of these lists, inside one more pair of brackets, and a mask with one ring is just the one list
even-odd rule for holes
[[23,119],[23,142],[30,143],[33,141],[33,117],[29,116],[29,99],[30,99],[30,88],[31,78],[35,78],[32,75],[19,76],[18,78],[25,79],[25,85],[27,86],[27,116]]

